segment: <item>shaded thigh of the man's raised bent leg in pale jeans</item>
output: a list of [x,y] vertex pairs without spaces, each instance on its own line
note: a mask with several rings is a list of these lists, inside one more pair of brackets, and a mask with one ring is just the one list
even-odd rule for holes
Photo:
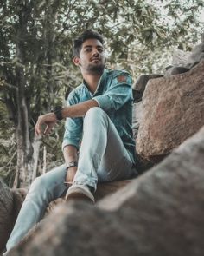
[[99,182],[128,179],[132,174],[131,157],[114,124],[109,122],[105,154],[97,171]]

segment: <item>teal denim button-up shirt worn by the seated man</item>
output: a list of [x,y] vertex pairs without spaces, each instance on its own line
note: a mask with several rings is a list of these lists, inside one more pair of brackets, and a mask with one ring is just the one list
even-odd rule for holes
[[[131,75],[124,70],[105,69],[94,94],[86,87],[86,82],[68,95],[67,106],[95,100],[115,125],[124,147],[135,163],[135,141],[132,134],[132,89]],[[67,117],[62,149],[67,145],[80,148],[83,133],[83,117]]]

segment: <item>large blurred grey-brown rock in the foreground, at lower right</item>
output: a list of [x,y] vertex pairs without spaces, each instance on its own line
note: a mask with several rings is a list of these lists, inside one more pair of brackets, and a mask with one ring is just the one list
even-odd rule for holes
[[203,154],[204,128],[98,206],[58,207],[9,255],[202,256]]

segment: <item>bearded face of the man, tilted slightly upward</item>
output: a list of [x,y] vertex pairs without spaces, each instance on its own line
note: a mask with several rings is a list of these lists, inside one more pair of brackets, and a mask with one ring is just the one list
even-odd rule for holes
[[100,74],[105,69],[105,49],[97,39],[87,39],[80,50],[80,57],[74,58],[82,72]]

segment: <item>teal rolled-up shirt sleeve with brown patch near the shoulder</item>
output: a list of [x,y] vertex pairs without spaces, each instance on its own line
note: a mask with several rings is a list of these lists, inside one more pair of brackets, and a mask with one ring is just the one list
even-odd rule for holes
[[104,95],[96,95],[92,99],[98,102],[105,112],[118,110],[128,101],[132,101],[131,75],[125,73],[112,79],[111,86]]

